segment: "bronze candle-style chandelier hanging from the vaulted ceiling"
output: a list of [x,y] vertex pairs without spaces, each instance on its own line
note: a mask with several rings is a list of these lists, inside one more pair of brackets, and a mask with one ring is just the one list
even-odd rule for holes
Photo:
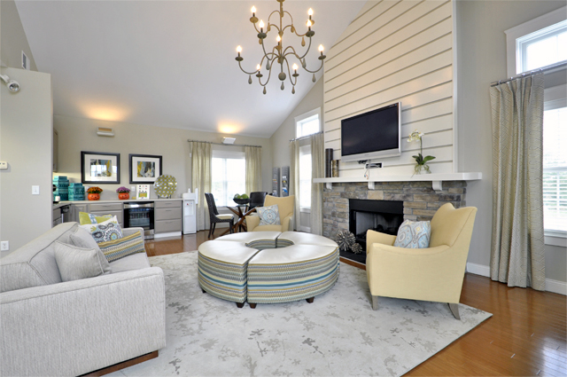
[[[315,21],[312,18],[313,10],[309,9],[309,11],[307,12],[307,14],[309,15],[309,19],[307,20],[306,23],[307,32],[305,34],[299,34],[295,26],[293,26],[293,18],[291,17],[290,12],[283,11],[283,2],[285,0],[276,0],[276,1],[280,4],[280,10],[270,13],[268,17],[268,25],[264,25],[263,20],[260,20],[260,22],[258,22],[258,18],[256,17],[256,8],[252,6],[252,17],[250,18],[250,22],[252,22],[254,28],[258,32],[258,43],[260,43],[260,45],[262,46],[262,51],[264,51],[264,56],[262,56],[262,59],[260,60],[260,64],[256,66],[256,70],[252,72],[247,72],[242,67],[242,60],[244,60],[244,58],[240,56],[240,53],[242,52],[242,47],[240,46],[237,47],[238,56],[236,59],[238,62],[238,67],[240,67],[242,72],[244,72],[246,75],[249,76],[248,83],[252,84],[252,75],[258,77],[258,82],[260,82],[260,85],[264,87],[263,90],[264,94],[266,94],[266,85],[268,84],[269,79],[272,76],[272,68],[274,68],[275,66],[276,66],[275,69],[279,68],[280,71],[280,73],[277,75],[277,78],[282,82],[282,86],[280,87],[281,90],[284,89],[283,82],[285,82],[285,80],[289,77],[291,82],[291,93],[295,94],[295,85],[298,82],[298,76],[299,76],[298,65],[296,63],[293,63],[293,65],[291,66],[291,70],[293,70],[293,74],[291,74],[290,62],[288,59],[291,59],[293,57],[295,57],[295,59],[298,59],[299,64],[301,64],[301,67],[303,67],[303,69],[305,69],[308,73],[313,74],[313,82],[315,82],[315,73],[321,70],[323,59],[325,59],[326,56],[322,54],[323,51],[322,44],[319,45],[319,51],[321,51],[321,55],[318,57],[318,59],[321,60],[321,66],[315,71],[311,71],[307,68],[305,57],[307,56],[307,53],[311,49],[311,38],[313,37],[313,35],[315,35],[315,31],[311,30],[311,27],[315,24]],[[280,19],[279,26],[276,25],[276,23],[271,22],[272,16],[276,13]],[[283,26],[283,17],[286,14],[290,16],[291,23],[289,25]],[[264,32],[264,27],[266,27],[266,32]],[[307,51],[305,51],[303,55],[299,55],[291,45],[288,45],[285,48],[283,47],[283,32],[288,27],[290,29],[291,35],[295,34],[301,38],[301,47],[305,47],[306,45],[305,37],[307,36],[307,38],[309,38],[309,45],[307,46]],[[266,39],[268,33],[272,30],[272,28],[275,28],[277,31],[276,45],[271,49],[270,52],[267,52],[264,40]],[[261,74],[261,68],[264,66],[264,62],[266,62],[266,71],[268,75],[266,82],[262,82],[262,77],[264,77],[264,75]],[[287,71],[287,74],[285,73],[285,71]]]

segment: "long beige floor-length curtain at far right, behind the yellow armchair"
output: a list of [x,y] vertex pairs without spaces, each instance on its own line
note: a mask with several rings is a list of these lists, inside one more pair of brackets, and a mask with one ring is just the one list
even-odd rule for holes
[[543,74],[490,89],[493,123],[491,278],[545,290]]

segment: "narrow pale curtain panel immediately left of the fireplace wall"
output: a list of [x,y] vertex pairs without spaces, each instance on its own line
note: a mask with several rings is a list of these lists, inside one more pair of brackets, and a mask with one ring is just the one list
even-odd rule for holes
[[[311,137],[311,178],[325,177],[324,137],[317,133]],[[311,232],[322,235],[322,184],[311,184]]]

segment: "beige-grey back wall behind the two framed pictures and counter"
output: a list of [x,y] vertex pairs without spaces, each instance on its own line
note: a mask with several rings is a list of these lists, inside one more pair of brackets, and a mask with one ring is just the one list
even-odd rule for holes
[[[97,128],[114,130],[114,137],[97,136]],[[86,118],[55,115],[54,128],[58,131],[58,172],[55,175],[69,177],[71,182],[81,182],[81,151],[120,153],[120,185],[99,185],[104,192],[102,200],[116,199],[116,189],[130,187],[128,154],[155,154],[162,156],[163,173],[177,180],[178,198],[187,192],[191,182],[189,143],[187,139],[221,142],[216,132],[171,129],[144,126],[124,122],[97,121]],[[227,136],[227,135],[224,135]],[[270,140],[262,137],[237,137],[237,144],[262,146],[262,187],[271,187],[272,155]],[[151,192],[155,198],[155,192]]]

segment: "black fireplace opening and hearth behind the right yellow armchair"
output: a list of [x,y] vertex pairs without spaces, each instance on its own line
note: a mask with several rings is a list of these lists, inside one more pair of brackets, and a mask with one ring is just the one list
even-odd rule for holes
[[397,235],[404,221],[404,202],[396,200],[349,199],[349,231],[354,234],[363,252],[342,251],[340,255],[359,263],[366,263],[366,232],[373,230]]

